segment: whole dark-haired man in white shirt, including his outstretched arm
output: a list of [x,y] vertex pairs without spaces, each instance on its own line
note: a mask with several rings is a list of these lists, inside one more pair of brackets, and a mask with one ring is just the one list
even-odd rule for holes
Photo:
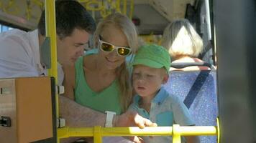
[[[74,64],[83,54],[90,34],[96,24],[90,14],[77,1],[55,2],[58,75],[63,81],[61,64]],[[0,79],[10,77],[38,77],[47,75],[42,59],[42,43],[45,41],[45,12],[42,12],[38,29],[25,32],[18,29],[0,34]],[[80,104],[60,96],[60,116],[70,127],[92,127],[106,123],[106,114],[82,107]],[[137,112],[126,112],[108,119],[114,126],[155,126]],[[109,123],[111,122],[111,123]]]

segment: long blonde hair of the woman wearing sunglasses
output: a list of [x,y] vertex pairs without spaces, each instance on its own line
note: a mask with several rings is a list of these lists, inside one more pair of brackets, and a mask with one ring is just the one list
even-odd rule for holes
[[[127,37],[129,47],[132,49],[132,54],[135,54],[138,49],[138,37],[137,29],[132,21],[125,15],[120,13],[114,13],[106,16],[105,19],[99,22],[96,31],[93,35],[94,46],[98,47],[99,35],[104,28],[109,25],[114,25],[116,29],[120,29]],[[124,112],[132,102],[132,86],[129,77],[129,71],[127,69],[127,63],[124,61],[121,66],[116,69],[116,75],[119,84],[120,104],[122,105],[122,111]]]

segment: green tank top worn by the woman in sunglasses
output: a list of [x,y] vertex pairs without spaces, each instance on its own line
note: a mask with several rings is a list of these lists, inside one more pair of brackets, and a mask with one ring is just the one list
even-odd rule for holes
[[83,72],[83,57],[78,58],[76,61],[76,89],[75,100],[77,103],[84,107],[90,107],[91,109],[99,112],[111,111],[116,114],[122,113],[122,107],[119,103],[119,88],[117,81],[101,92],[93,92],[88,87],[86,77]]

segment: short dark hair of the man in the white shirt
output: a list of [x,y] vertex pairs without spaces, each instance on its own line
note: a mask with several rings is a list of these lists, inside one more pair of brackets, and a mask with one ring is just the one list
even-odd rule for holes
[[[86,9],[77,1],[55,2],[56,31],[60,39],[70,36],[73,30],[83,29],[90,34],[96,29],[96,23]],[[37,28],[45,36],[45,11],[42,11]]]

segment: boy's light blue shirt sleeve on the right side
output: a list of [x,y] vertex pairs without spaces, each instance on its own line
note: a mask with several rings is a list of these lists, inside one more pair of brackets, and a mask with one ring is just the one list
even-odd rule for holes
[[178,99],[178,97],[173,96],[172,100],[172,108],[173,108],[173,118],[175,124],[180,124],[182,126],[194,125],[191,114],[189,114],[188,108],[186,105]]

